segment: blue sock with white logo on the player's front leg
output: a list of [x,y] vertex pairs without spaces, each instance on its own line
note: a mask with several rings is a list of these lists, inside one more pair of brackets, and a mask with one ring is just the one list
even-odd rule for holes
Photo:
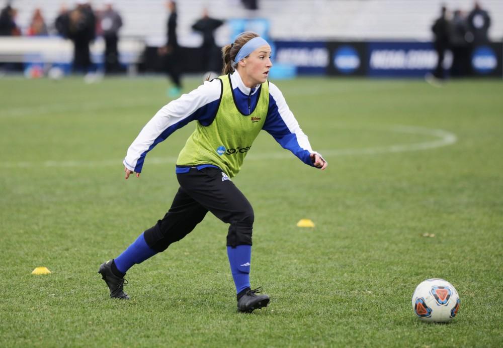
[[236,294],[250,288],[250,261],[251,246],[238,245],[235,248],[227,247],[230,271],[236,285]]

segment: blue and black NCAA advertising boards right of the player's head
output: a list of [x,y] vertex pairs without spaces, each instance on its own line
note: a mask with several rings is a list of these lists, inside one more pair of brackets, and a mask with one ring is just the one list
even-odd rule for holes
[[[370,77],[424,77],[435,69],[437,53],[431,42],[414,41],[276,41],[275,61],[290,62],[299,74]],[[470,76],[501,77],[502,43],[473,48]],[[447,52],[444,69],[452,64]]]

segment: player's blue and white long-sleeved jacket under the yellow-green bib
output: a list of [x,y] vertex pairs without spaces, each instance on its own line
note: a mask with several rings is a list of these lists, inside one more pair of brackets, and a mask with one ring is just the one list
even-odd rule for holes
[[[258,88],[246,87],[237,71],[230,78],[236,106],[241,113],[250,114],[257,105]],[[140,173],[147,153],[177,129],[195,120],[203,126],[211,125],[218,110],[221,91],[218,79],[205,81],[192,92],[164,105],[128,148],[124,166]],[[269,109],[262,129],[302,162],[313,166],[310,154],[316,152],[311,149],[307,136],[300,129],[283,94],[272,82],[269,82]]]

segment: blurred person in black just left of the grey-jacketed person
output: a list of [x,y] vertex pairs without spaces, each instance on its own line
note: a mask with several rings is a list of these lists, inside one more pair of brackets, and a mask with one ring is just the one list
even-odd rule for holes
[[87,1],[77,1],[68,13],[66,37],[73,42],[73,71],[87,73],[91,69],[89,45],[96,37],[96,17]]

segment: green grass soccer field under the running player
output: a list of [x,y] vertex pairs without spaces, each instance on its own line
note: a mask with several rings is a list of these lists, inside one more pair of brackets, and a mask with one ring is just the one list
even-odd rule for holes
[[[234,182],[255,209],[252,286],[272,300],[241,314],[227,226],[210,214],[128,272],[130,301],[111,300],[97,274],[178,189],[193,124],[150,152],[139,179],[121,164],[168,101],[163,78],[1,79],[0,346],[503,345],[503,83],[276,84],[329,166],[267,133],[249,152]],[[449,324],[411,309],[433,277],[459,292]]]

